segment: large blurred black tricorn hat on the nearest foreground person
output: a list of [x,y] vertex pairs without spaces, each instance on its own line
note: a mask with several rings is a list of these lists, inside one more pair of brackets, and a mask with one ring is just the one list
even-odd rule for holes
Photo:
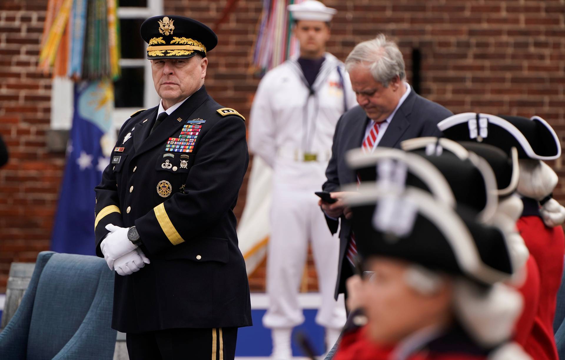
[[469,278],[481,285],[514,273],[505,233],[437,202],[423,190],[401,196],[362,191],[346,198],[363,259],[385,256]]

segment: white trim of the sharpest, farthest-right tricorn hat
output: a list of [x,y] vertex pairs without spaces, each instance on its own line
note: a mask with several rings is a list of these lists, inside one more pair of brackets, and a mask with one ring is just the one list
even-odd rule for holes
[[[477,118],[479,121],[477,122]],[[524,135],[516,126],[514,126],[510,121],[507,121],[501,117],[496,115],[490,114],[483,114],[483,113],[460,113],[450,116],[445,120],[439,122],[437,124],[438,129],[442,132],[446,132],[451,127],[467,123],[468,124],[468,138],[467,139],[453,139],[451,136],[446,135],[448,138],[452,140],[476,140],[477,142],[483,142],[484,139],[488,138],[488,125],[492,124],[498,127],[503,128],[505,131],[509,132],[516,142],[520,145],[521,149],[523,149],[525,155],[529,158],[536,159],[536,160],[554,160],[561,156],[561,144],[559,142],[559,138],[555,131],[551,126],[542,118],[538,116],[534,116],[531,118],[532,121],[539,122],[542,126],[545,127],[547,132],[550,134],[551,139],[555,142],[555,147],[557,148],[557,153],[550,156],[542,156],[538,155],[532,145],[528,142],[527,136]],[[491,145],[497,145],[496,139],[492,141],[487,141],[486,143]]]

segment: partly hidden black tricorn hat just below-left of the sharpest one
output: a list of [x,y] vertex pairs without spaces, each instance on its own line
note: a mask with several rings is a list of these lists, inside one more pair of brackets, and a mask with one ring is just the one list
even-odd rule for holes
[[454,142],[445,138],[435,138],[428,136],[425,138],[414,138],[405,140],[401,143],[405,151],[425,154],[438,155],[444,152],[453,153],[459,158],[466,158],[467,152],[473,152],[484,158],[494,172],[497,182],[497,194],[499,197],[511,195],[518,186],[520,176],[518,166],[518,150],[512,148],[510,156],[500,148],[493,145],[473,143],[473,142]]

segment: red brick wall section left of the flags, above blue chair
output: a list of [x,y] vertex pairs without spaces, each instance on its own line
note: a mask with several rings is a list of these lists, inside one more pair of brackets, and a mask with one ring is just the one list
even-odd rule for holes
[[0,293],[12,261],[49,248],[64,156],[47,152],[51,80],[36,69],[47,1],[0,2]]

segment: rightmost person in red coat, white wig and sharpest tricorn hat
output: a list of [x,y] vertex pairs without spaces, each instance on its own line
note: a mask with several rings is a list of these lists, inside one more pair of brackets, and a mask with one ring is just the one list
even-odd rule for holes
[[438,128],[449,139],[490,144],[506,153],[518,149],[516,192],[523,210],[518,213],[516,226],[531,259],[526,281],[520,287],[526,307],[516,327],[515,340],[536,360],[559,359],[553,323],[565,255],[561,226],[565,208],[553,199],[559,178],[545,163],[561,156],[557,134],[538,116],[483,113],[456,114],[440,122]]

